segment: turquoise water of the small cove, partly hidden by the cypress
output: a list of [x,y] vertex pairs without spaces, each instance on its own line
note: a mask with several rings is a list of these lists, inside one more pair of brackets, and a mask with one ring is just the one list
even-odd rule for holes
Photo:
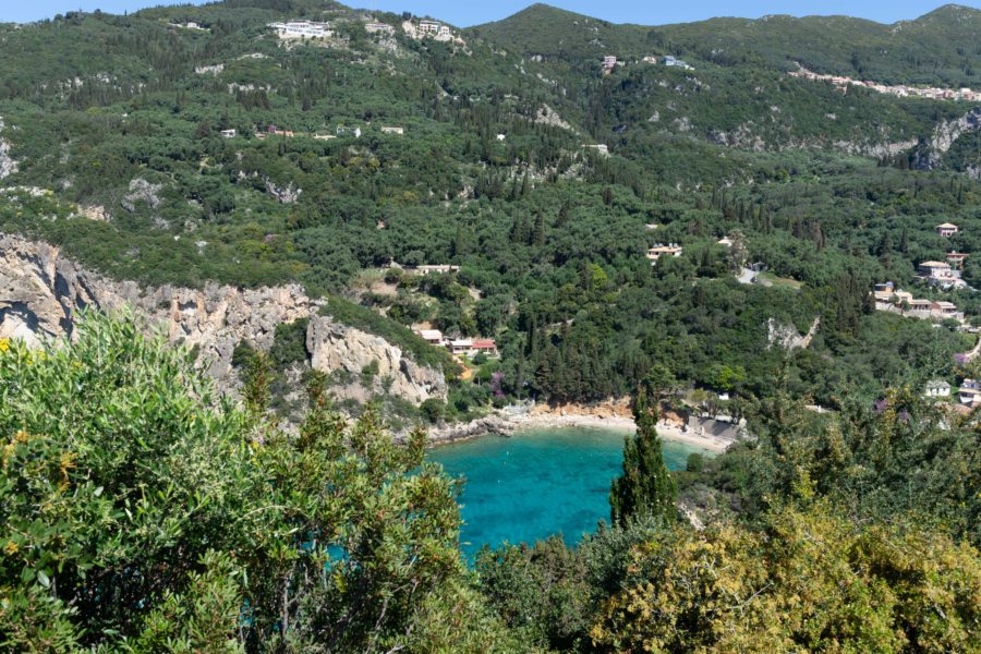
[[[669,470],[683,469],[698,447],[662,440]],[[505,541],[532,543],[561,534],[567,544],[609,521],[609,483],[622,472],[623,432],[561,427],[484,436],[429,450],[464,479],[463,552]]]

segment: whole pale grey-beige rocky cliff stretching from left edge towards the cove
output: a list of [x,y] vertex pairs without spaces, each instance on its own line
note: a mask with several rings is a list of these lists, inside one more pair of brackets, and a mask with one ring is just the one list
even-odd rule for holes
[[316,315],[316,303],[299,286],[241,290],[209,284],[195,290],[172,286],[143,288],[90,272],[57,247],[0,234],[0,338],[15,337],[37,347],[44,339],[71,336],[80,311],[111,311],[124,305],[147,317],[172,342],[198,352],[198,363],[218,388],[234,391],[232,353],[240,342],[272,346],[276,327],[311,318],[307,350],[313,367],[361,372],[378,362],[371,388],[344,387],[338,395],[365,401],[387,390],[410,402],[446,397],[443,373],[420,366],[385,339]]

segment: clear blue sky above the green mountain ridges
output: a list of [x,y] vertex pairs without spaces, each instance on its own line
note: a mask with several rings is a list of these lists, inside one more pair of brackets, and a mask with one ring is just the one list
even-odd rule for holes
[[[144,7],[157,4],[186,3],[169,0],[2,0],[0,1],[0,21],[27,22],[50,17],[57,13],[73,10],[92,11],[101,9],[111,13],[135,11]],[[193,0],[202,4],[202,0]],[[410,11],[417,15],[432,15],[455,25],[468,26],[496,21],[520,11],[532,3],[531,0],[497,0],[496,2],[474,2],[473,0],[350,0],[344,2],[359,8],[378,9],[395,12]],[[640,23],[642,25],[662,25],[700,21],[713,16],[759,17],[766,14],[785,13],[794,15],[809,14],[848,14],[872,19],[881,23],[915,19],[928,13],[941,4],[942,0],[743,0],[739,3],[724,0],[620,0],[618,2],[600,0],[554,0],[556,7],[584,13],[614,23]],[[981,0],[959,2],[967,7],[981,9]]]

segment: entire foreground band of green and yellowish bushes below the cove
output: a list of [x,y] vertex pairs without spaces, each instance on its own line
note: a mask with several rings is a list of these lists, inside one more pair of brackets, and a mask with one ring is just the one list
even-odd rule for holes
[[[424,435],[397,446],[372,412],[348,424],[316,376],[308,395],[307,420],[282,432],[261,378],[250,377],[245,409],[216,402],[185,350],[125,315],[90,315],[73,340],[43,350],[0,341],[0,642],[37,652],[966,652],[977,642],[978,433],[943,428],[916,397],[823,425],[790,402],[768,407],[755,444],[687,473],[688,487],[728,498],[730,517],[702,531],[633,494],[638,506],[574,548],[505,545],[468,571],[457,484],[424,462]],[[663,472],[633,480],[654,487]]]

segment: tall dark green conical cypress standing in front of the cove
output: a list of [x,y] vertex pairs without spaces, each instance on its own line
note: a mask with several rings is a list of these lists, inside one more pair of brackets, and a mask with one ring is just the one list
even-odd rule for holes
[[620,525],[642,516],[673,522],[677,519],[675,480],[661,451],[655,428],[657,408],[647,405],[643,388],[633,399],[633,420],[637,434],[623,441],[623,475],[615,479],[609,488],[610,519]]

